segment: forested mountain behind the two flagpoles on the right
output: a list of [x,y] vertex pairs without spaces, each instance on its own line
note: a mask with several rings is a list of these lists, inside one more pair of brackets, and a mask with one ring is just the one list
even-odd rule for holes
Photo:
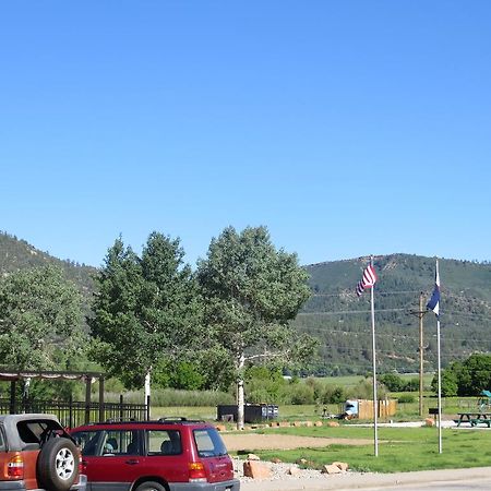
[[[358,298],[356,284],[368,258],[306,266],[312,297],[295,325],[321,340],[318,373],[370,372],[370,290]],[[439,260],[441,279],[442,364],[491,351],[491,265]],[[375,285],[375,340],[378,371],[419,370],[419,298],[423,311],[434,286],[435,261],[408,254],[378,256]],[[426,369],[436,360],[436,321],[423,316]]]

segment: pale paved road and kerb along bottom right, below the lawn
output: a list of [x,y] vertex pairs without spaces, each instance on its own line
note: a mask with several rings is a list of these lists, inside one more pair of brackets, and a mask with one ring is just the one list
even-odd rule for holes
[[241,491],[304,491],[304,490],[491,490],[491,467],[471,469],[421,470],[396,474],[358,474],[323,476],[303,480],[242,482]]

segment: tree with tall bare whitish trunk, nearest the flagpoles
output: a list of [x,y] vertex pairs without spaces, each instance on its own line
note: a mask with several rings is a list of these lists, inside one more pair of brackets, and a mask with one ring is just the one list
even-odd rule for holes
[[310,288],[296,254],[276,250],[265,227],[226,228],[197,263],[208,340],[226,350],[237,373],[238,427],[243,427],[244,368],[311,356],[315,342],[290,326]]

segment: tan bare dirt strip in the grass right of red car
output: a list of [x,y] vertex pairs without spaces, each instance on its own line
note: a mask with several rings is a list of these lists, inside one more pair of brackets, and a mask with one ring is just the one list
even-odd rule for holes
[[229,452],[254,450],[290,450],[302,447],[322,447],[327,445],[367,445],[373,442],[368,439],[322,439],[316,436],[295,436],[289,434],[227,434],[221,439]]

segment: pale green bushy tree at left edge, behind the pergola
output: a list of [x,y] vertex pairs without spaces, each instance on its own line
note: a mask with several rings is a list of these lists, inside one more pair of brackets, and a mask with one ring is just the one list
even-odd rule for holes
[[56,266],[0,282],[0,359],[17,370],[65,369],[83,350],[82,296]]

